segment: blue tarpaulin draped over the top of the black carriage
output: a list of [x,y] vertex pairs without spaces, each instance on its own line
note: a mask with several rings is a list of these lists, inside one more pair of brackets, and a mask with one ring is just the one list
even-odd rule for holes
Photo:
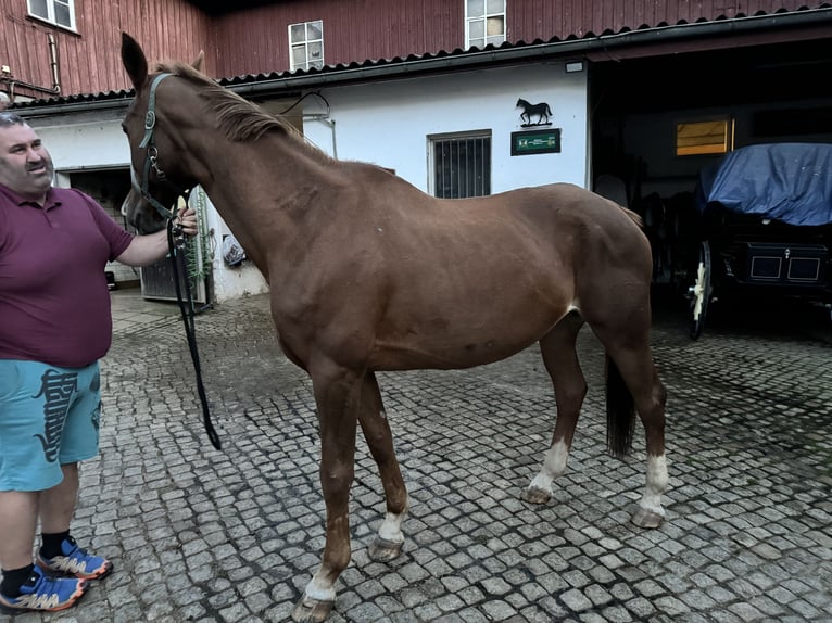
[[758,214],[789,225],[832,223],[832,144],[740,148],[699,173],[696,207]]

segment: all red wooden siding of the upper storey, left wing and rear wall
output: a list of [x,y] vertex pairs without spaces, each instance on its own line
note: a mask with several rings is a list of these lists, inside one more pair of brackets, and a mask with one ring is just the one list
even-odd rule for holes
[[[323,20],[324,62],[436,54],[465,46],[465,0],[282,0],[212,16],[187,0],[75,0],[77,34],[26,15],[26,0],[0,0],[0,65],[12,77],[52,87],[50,35],[61,96],[129,88],[118,49],[125,30],[150,59],[192,60],[205,51],[217,78],[289,69],[289,24]],[[806,0],[507,0],[512,43],[619,33],[642,26],[793,11]],[[0,90],[9,90],[0,77]],[[29,97],[48,91],[15,86]]]

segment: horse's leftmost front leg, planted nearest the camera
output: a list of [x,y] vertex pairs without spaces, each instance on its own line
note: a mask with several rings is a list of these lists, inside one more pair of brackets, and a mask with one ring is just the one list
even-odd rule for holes
[[355,425],[362,376],[330,361],[310,369],[320,429],[320,485],[327,507],[320,567],[292,611],[299,623],[320,623],[332,610],[335,585],[350,563],[350,487],[355,473]]

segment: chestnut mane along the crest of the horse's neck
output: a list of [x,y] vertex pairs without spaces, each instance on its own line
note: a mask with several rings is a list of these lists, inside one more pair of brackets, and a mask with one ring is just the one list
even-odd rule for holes
[[200,88],[200,96],[206,100],[217,115],[218,129],[231,141],[256,141],[267,132],[278,131],[294,139],[301,149],[322,160],[331,160],[314,145],[308,144],[303,135],[288,122],[266,113],[263,109],[222,87],[199,69],[187,63],[161,62],[155,71],[174,74]]

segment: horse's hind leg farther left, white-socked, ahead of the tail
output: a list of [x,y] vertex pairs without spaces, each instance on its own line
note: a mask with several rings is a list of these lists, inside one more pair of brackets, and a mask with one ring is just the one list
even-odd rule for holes
[[540,472],[522,493],[522,499],[526,501],[549,501],[552,497],[553,481],[566,471],[575,428],[587,395],[587,380],[583,378],[575,347],[582,325],[583,319],[580,316],[569,314],[540,341],[543,363],[555,387],[557,416],[552,445],[546,452]]

